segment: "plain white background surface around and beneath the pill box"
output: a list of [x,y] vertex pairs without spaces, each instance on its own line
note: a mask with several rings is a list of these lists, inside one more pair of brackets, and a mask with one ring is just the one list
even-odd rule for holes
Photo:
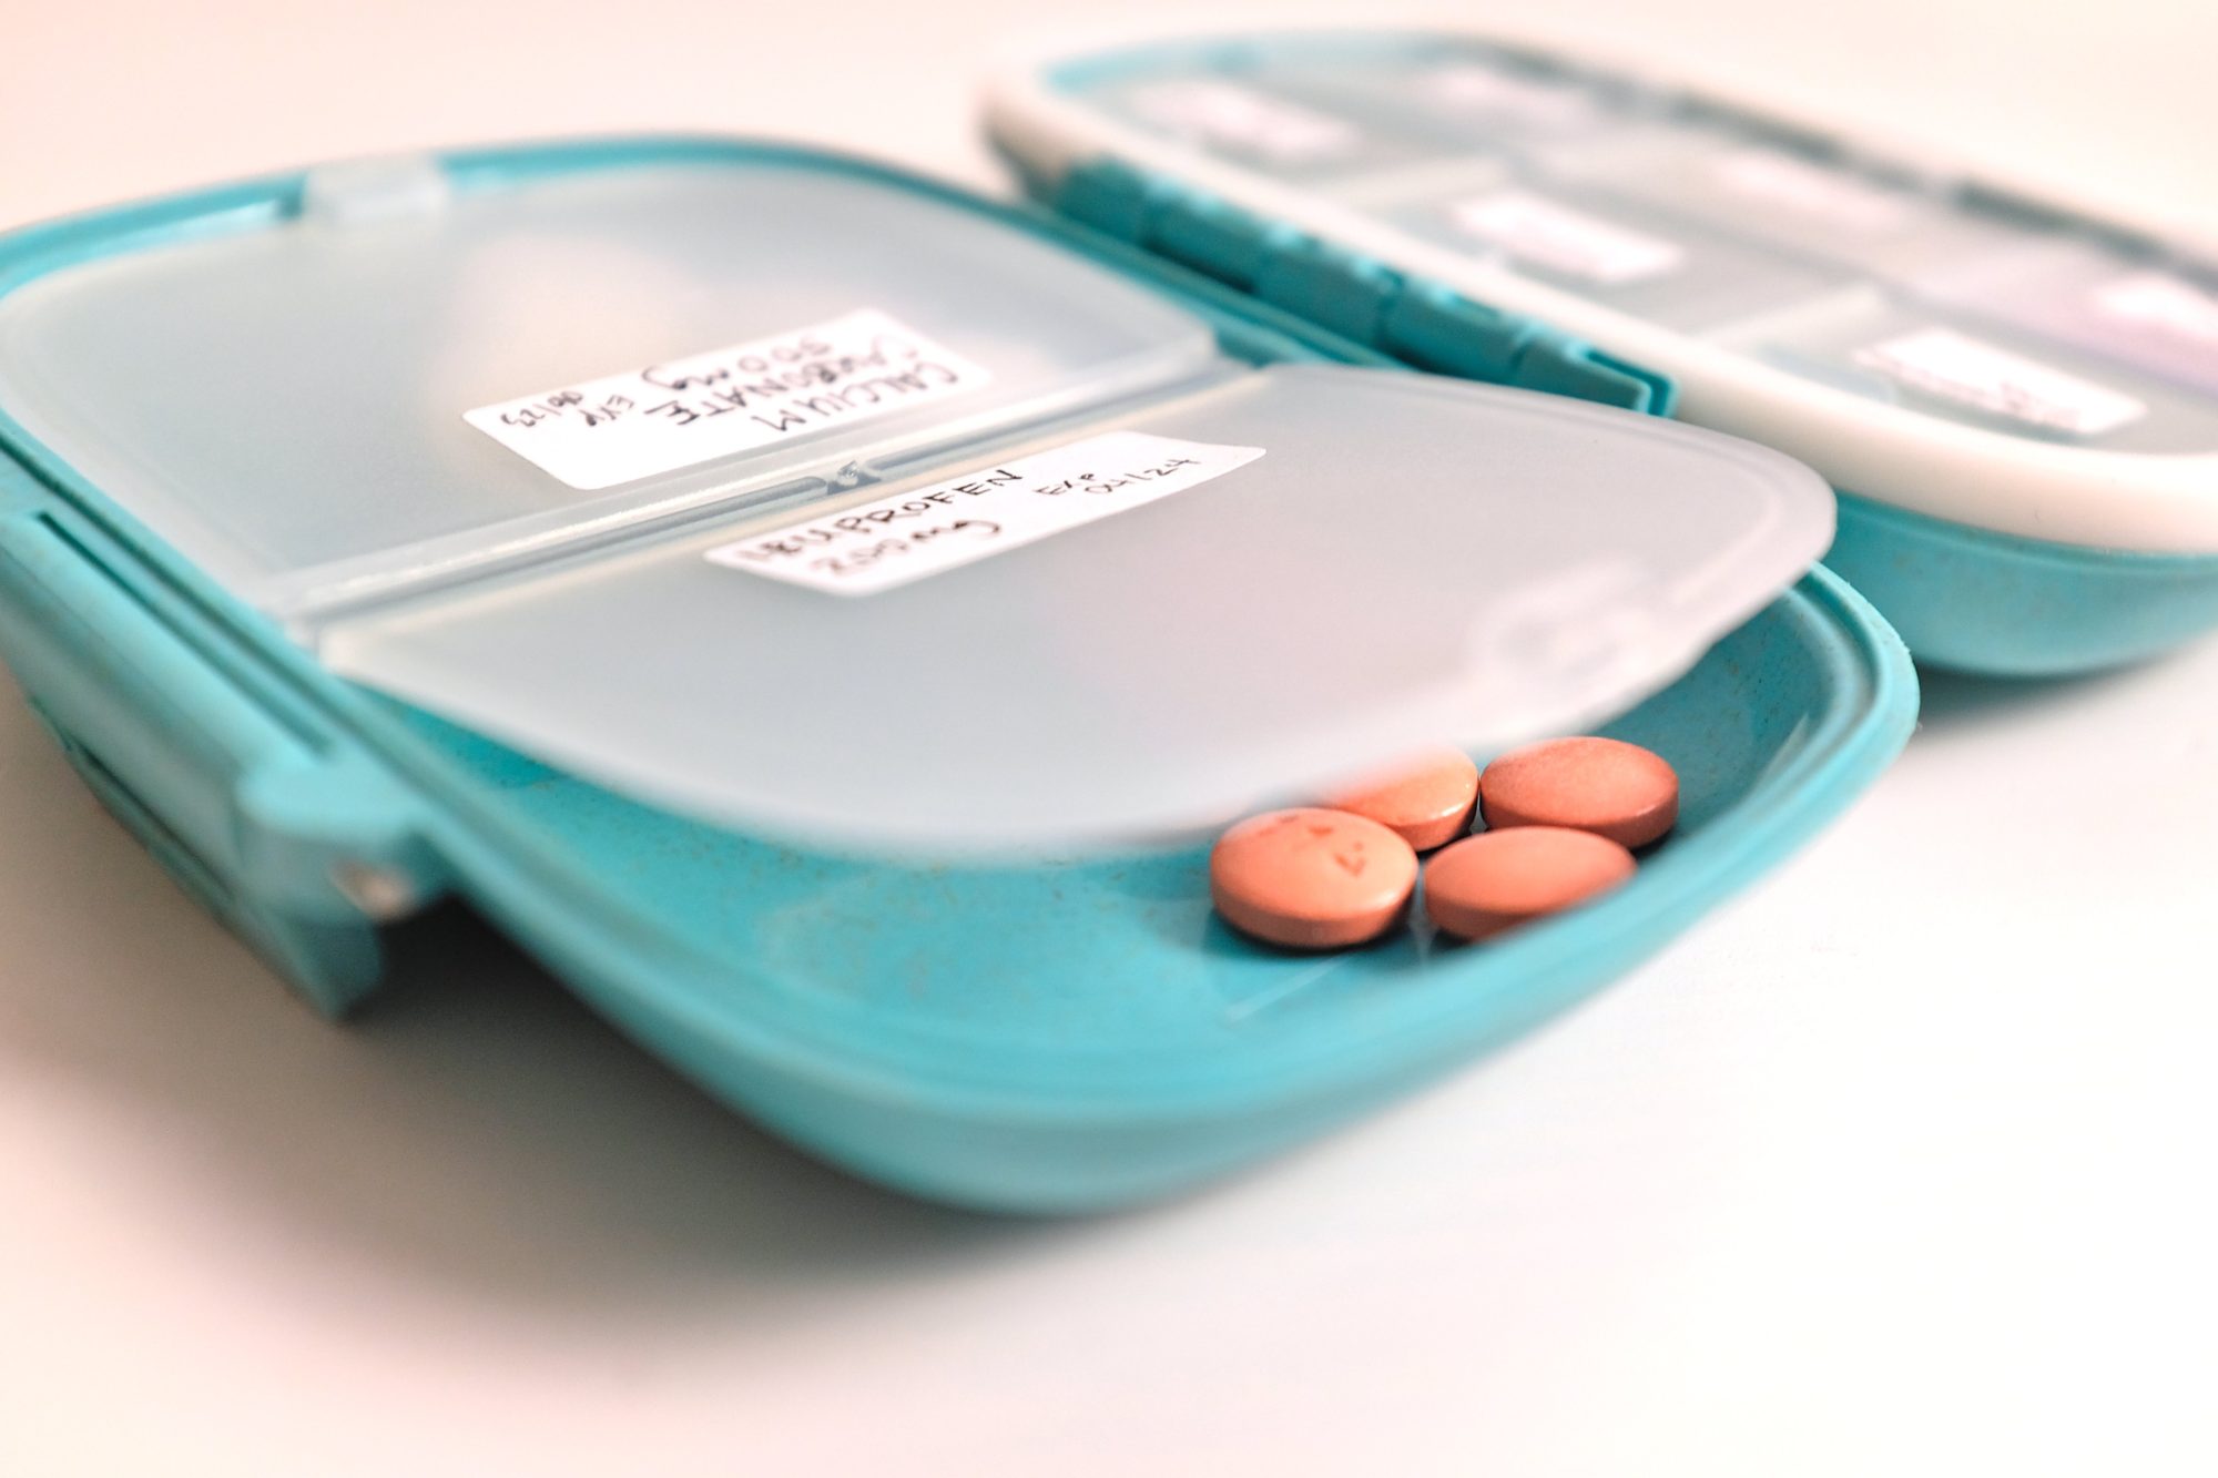
[[[2207,0],[1546,16],[2218,229]],[[969,87],[1040,20],[0,0],[0,222],[645,126],[1000,189]],[[315,1021],[0,679],[0,1471],[2218,1471],[2214,837],[2218,644],[1934,679],[1845,823],[1586,1010],[1244,1183],[1007,1225],[472,937]]]

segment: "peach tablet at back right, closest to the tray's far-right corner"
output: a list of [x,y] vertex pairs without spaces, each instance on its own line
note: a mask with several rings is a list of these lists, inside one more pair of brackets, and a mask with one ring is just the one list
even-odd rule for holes
[[1679,821],[1679,777],[1624,739],[1548,739],[1510,750],[1479,777],[1486,826],[1570,826],[1644,848]]

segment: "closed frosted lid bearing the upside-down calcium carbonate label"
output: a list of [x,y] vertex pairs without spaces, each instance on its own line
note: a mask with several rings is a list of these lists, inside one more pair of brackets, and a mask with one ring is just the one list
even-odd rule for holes
[[[461,184],[424,162],[386,211],[313,178],[308,209],[58,271],[0,300],[0,402],[288,608],[1215,355],[1160,295],[867,171],[628,162]],[[781,375],[792,395],[730,402]],[[590,466],[532,437],[592,442]]]

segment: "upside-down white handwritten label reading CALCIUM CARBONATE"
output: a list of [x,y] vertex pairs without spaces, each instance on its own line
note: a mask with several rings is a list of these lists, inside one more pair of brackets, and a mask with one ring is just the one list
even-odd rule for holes
[[974,391],[991,375],[876,308],[464,411],[579,490],[674,473]]

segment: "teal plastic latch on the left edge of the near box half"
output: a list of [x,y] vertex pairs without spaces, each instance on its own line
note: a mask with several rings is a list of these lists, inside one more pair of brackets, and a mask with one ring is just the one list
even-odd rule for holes
[[[419,801],[242,686],[55,499],[0,517],[0,648],[87,783],[319,1010],[379,974],[375,925],[444,890]],[[175,619],[173,619],[175,617]]]

